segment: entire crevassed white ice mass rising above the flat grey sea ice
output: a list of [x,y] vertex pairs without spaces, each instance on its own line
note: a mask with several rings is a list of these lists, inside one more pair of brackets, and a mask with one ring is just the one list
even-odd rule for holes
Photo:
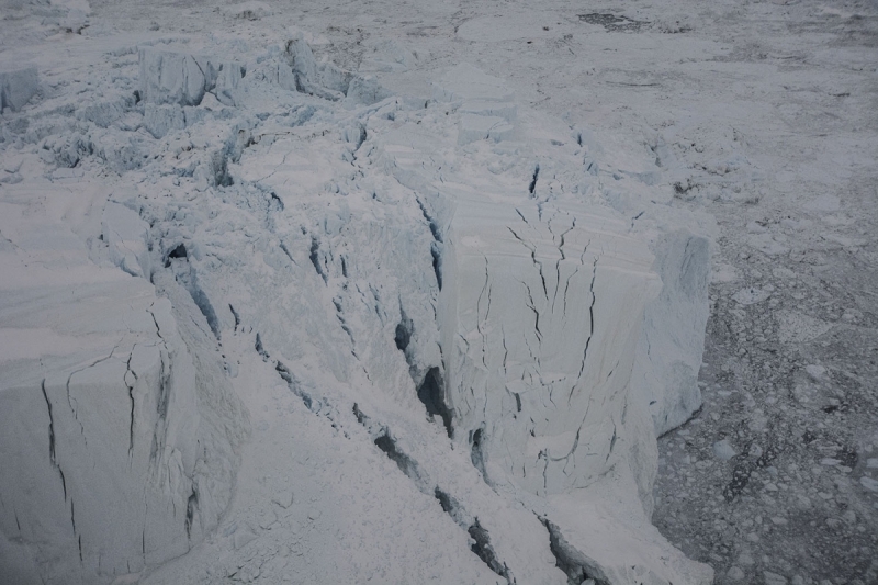
[[0,72],[0,581],[711,583],[650,524],[709,222],[469,64],[137,42]]

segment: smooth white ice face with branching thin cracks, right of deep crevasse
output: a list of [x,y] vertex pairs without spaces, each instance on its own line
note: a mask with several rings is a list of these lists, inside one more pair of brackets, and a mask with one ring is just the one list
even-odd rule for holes
[[660,286],[651,261],[599,210],[458,201],[443,350],[455,432],[486,481],[564,493],[624,457],[634,348]]

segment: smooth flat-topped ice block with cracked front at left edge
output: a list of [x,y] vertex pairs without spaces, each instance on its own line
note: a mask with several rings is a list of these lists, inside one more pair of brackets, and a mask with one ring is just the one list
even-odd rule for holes
[[[148,226],[105,193],[21,183],[0,202],[4,583],[138,573],[201,541],[232,496],[245,419],[203,316],[157,297]],[[105,246],[90,252],[91,229]]]

